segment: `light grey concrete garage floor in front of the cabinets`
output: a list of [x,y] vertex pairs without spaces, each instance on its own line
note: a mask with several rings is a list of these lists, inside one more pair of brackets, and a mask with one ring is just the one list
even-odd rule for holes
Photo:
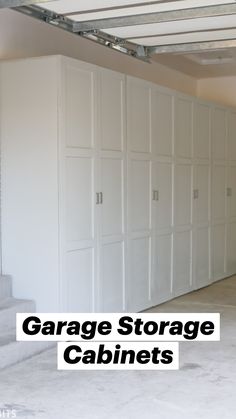
[[236,277],[150,311],[220,312],[221,342],[181,343],[181,369],[167,372],[58,372],[53,349],[0,372],[0,412],[15,409],[24,419],[235,419]]

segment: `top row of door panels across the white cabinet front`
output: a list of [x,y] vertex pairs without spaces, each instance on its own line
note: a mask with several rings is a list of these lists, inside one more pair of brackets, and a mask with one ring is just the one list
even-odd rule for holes
[[89,66],[65,78],[67,147],[236,161],[234,109]]

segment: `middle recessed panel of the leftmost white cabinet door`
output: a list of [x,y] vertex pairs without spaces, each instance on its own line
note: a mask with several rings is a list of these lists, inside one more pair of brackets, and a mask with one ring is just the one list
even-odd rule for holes
[[93,159],[66,159],[67,241],[93,238]]

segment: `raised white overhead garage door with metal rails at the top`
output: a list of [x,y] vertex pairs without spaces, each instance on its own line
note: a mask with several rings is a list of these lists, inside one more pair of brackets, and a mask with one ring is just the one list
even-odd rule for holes
[[199,65],[235,61],[235,0],[0,0],[0,7],[142,60],[174,54],[178,62],[181,54]]

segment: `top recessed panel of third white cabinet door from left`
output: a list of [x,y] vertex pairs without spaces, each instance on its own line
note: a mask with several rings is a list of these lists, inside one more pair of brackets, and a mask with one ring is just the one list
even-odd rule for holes
[[150,88],[128,79],[128,146],[130,151],[150,151]]

